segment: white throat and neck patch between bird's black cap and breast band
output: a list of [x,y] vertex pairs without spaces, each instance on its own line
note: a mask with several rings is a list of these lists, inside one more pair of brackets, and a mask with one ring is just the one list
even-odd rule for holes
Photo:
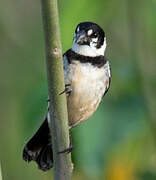
[[97,39],[94,38],[93,41],[90,43],[90,46],[88,45],[79,45],[75,43],[75,40],[73,41],[72,50],[76,52],[77,54],[81,54],[83,56],[104,56],[105,49],[106,49],[106,38],[104,39],[103,45],[97,49],[96,46]]

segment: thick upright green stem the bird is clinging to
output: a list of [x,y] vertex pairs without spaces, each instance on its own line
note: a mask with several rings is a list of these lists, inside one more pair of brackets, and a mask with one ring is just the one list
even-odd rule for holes
[[49,128],[54,157],[54,179],[70,180],[71,154],[58,154],[69,147],[68,116],[62,63],[57,0],[41,0],[45,33],[48,92],[50,98]]

